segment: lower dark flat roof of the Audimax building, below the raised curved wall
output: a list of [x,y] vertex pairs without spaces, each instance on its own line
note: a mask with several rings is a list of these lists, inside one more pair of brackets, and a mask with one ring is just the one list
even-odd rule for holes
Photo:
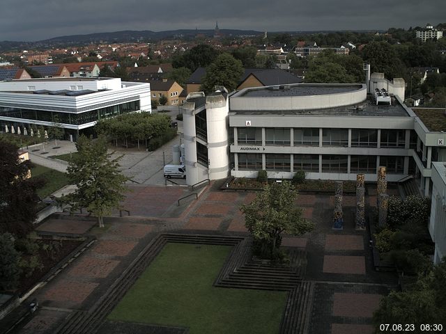
[[231,115],[298,115],[298,116],[388,116],[411,117],[404,106],[392,97],[392,105],[378,104],[374,97],[367,95],[367,100],[350,106],[337,106],[326,109],[309,110],[233,110]]

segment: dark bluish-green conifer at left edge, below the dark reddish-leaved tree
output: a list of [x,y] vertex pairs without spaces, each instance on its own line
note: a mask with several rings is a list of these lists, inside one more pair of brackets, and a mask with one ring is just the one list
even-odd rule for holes
[[13,234],[0,234],[0,291],[17,287],[19,260],[20,253],[14,248]]

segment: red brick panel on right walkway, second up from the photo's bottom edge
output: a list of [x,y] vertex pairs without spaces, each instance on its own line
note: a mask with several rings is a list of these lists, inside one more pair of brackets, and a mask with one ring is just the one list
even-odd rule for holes
[[373,317],[378,309],[380,294],[334,293],[333,315],[340,317]]

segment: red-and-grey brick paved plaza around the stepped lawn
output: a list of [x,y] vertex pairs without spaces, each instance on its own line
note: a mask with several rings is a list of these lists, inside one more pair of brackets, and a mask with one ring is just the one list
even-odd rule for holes
[[[105,218],[103,231],[91,230],[94,221],[85,216],[47,219],[38,230],[93,233],[97,241],[34,292],[31,298],[38,299],[40,308],[20,333],[53,333],[70,312],[90,310],[160,232],[246,236],[239,207],[255,193],[220,191],[220,183],[211,183],[198,200],[180,206],[178,198],[188,193],[183,187],[134,185],[125,202],[132,215]],[[301,194],[296,201],[316,223],[314,232],[285,236],[282,242],[307,251],[305,280],[315,286],[308,333],[372,333],[371,317],[381,296],[397,284],[392,274],[374,271],[367,232],[355,230],[354,203],[354,196],[344,194],[345,224],[338,231],[332,230],[333,196]]]

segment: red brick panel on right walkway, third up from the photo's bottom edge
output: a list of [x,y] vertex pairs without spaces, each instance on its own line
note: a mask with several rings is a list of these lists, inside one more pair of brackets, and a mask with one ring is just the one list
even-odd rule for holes
[[325,255],[323,272],[365,275],[365,258],[364,256]]

